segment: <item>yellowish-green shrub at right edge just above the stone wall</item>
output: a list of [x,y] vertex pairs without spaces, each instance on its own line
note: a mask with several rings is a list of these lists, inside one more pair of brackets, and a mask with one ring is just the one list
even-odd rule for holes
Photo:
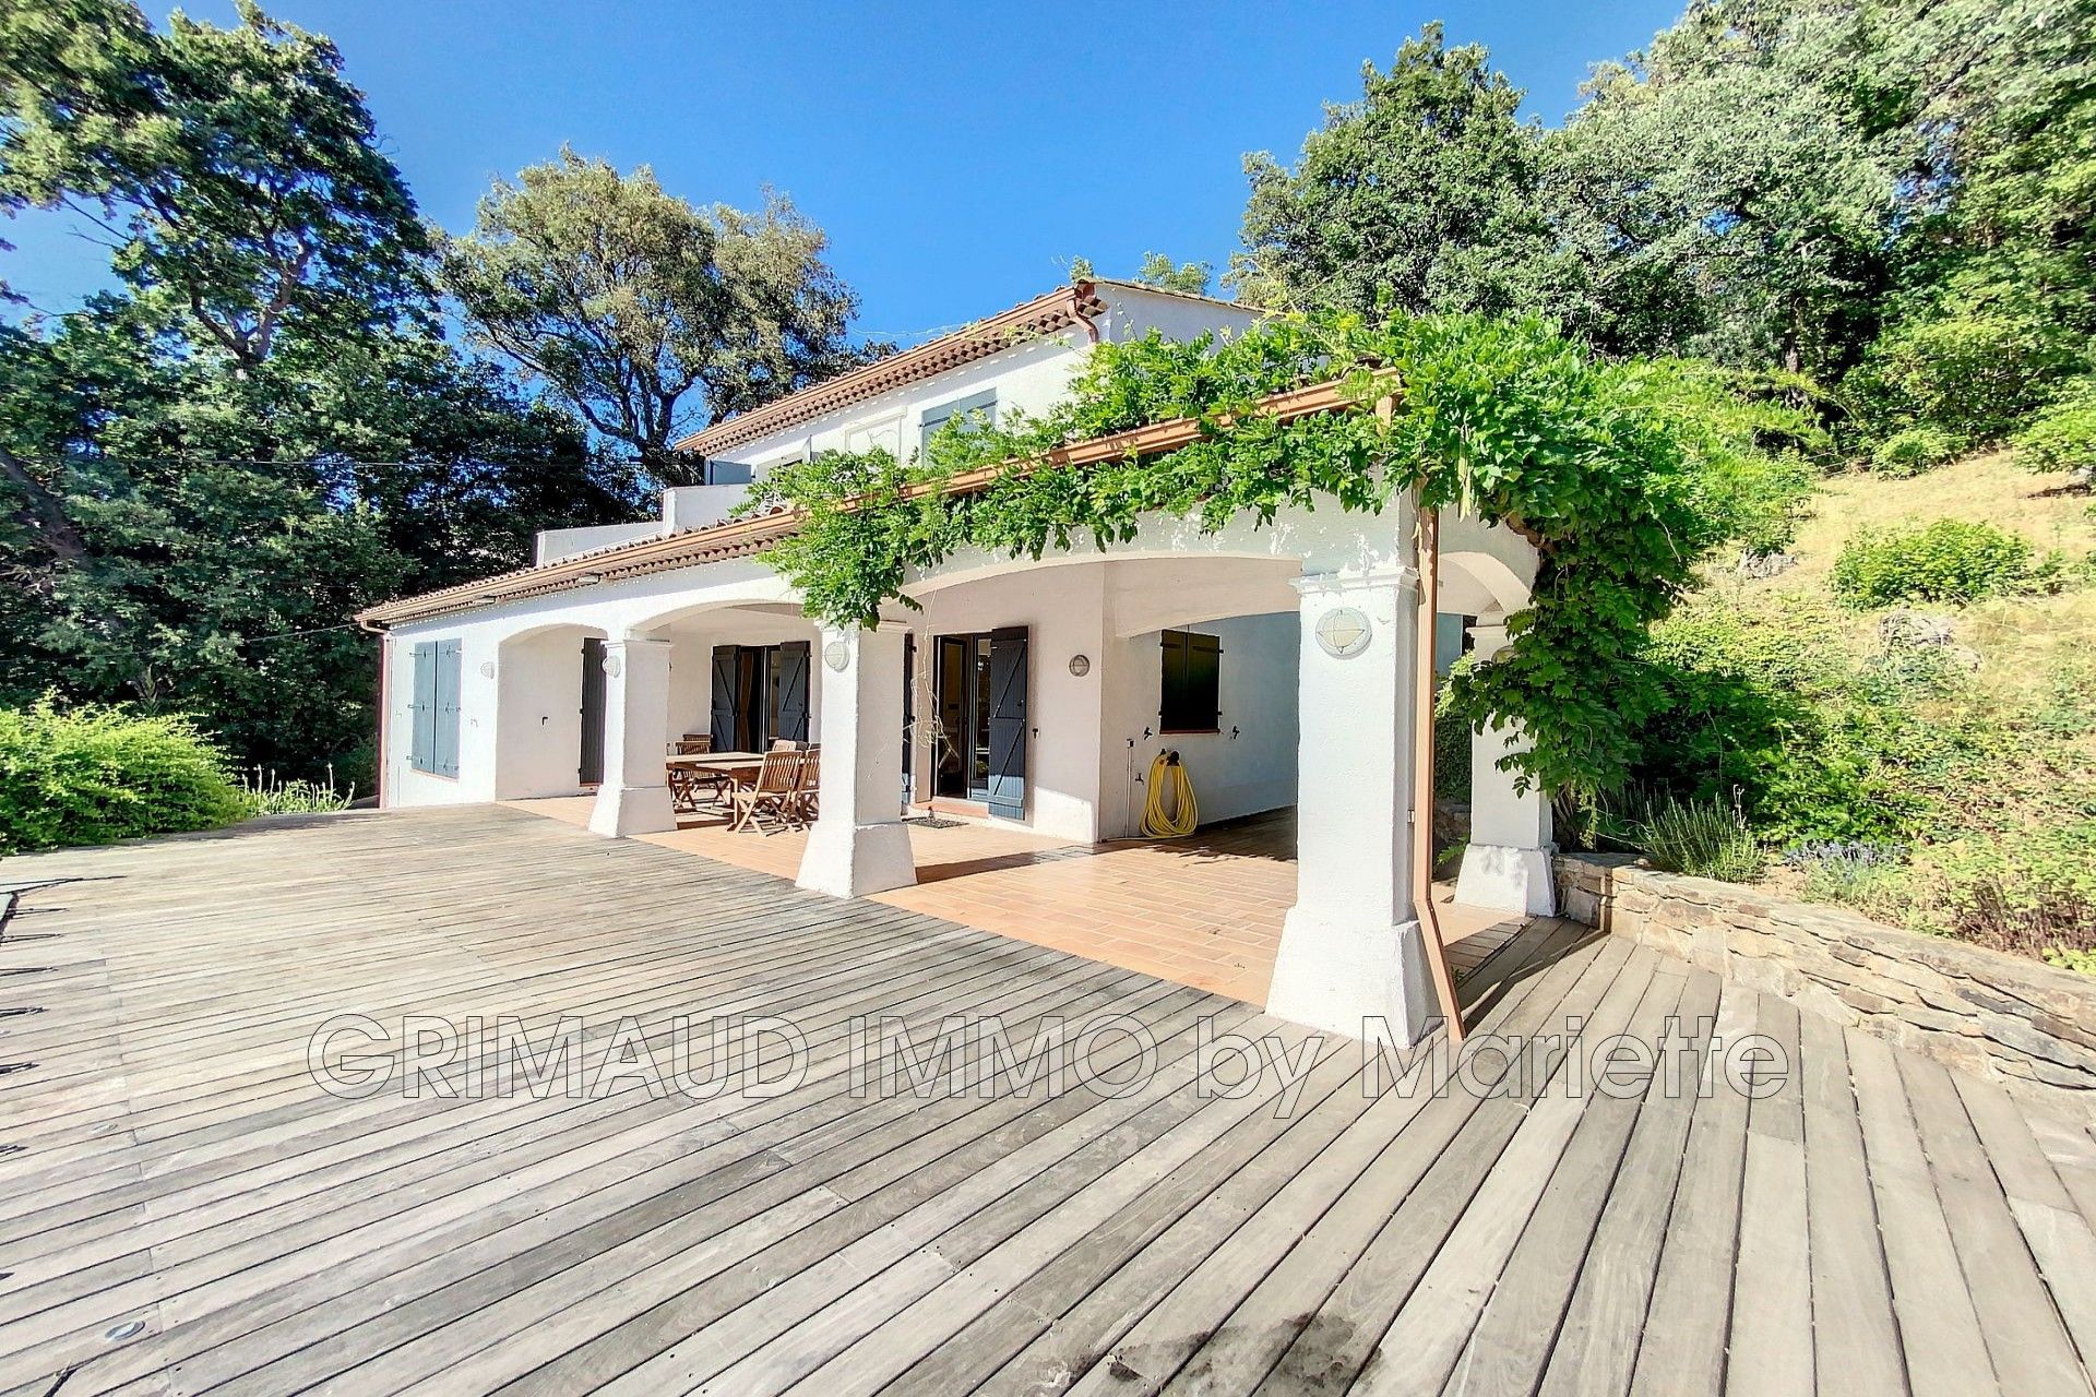
[[1974,836],[1937,867],[1951,934],[2021,955],[2096,953],[2096,819]]

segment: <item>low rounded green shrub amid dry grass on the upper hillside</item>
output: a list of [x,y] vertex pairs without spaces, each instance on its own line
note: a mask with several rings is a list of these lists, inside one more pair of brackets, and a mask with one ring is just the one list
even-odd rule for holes
[[1968,519],[1861,530],[1834,559],[1834,595],[1857,609],[1907,601],[1979,601],[2044,591],[2060,561],[2033,561],[2018,534]]

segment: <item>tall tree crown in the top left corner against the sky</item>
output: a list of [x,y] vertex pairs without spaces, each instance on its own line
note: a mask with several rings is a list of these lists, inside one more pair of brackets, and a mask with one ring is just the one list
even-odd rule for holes
[[239,15],[155,34],[126,0],[4,0],[0,207],[92,218],[126,283],[254,369],[289,327],[415,306],[425,237],[335,46]]

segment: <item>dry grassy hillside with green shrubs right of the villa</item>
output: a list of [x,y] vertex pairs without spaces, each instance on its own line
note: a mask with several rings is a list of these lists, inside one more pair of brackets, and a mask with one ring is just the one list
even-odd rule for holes
[[2010,452],[1830,478],[1788,563],[1712,570],[1656,628],[1654,804],[1700,804],[1715,846],[1652,808],[1597,815],[1599,842],[2096,968],[2092,557],[2088,492]]

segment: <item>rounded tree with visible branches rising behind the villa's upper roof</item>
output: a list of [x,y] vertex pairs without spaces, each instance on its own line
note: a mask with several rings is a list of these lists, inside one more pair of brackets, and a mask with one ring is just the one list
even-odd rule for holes
[[780,195],[698,209],[646,165],[564,149],[495,184],[474,230],[442,241],[442,276],[480,343],[687,484],[681,436],[864,362],[826,245]]

